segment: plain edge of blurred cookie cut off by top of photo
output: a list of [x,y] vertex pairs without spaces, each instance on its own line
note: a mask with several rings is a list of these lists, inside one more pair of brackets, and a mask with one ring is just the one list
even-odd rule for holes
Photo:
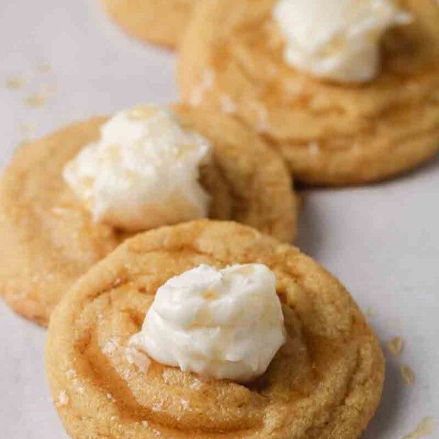
[[197,0],[102,0],[106,12],[128,34],[176,47]]

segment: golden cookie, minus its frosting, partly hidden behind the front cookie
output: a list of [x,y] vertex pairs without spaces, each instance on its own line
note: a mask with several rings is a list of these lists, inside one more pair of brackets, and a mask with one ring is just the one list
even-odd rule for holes
[[[237,121],[179,106],[183,126],[213,143],[201,182],[209,217],[244,222],[284,241],[296,235],[296,198],[283,161]],[[23,316],[47,324],[62,294],[128,235],[91,215],[64,183],[62,169],[99,137],[97,117],[30,143],[0,182],[0,294]]]

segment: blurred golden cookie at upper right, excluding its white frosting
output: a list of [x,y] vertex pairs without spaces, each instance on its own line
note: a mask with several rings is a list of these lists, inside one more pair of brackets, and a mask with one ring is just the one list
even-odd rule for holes
[[414,16],[383,41],[379,77],[355,86],[283,60],[276,0],[206,0],[180,47],[182,99],[235,112],[311,185],[372,182],[439,150],[439,4],[401,0]]

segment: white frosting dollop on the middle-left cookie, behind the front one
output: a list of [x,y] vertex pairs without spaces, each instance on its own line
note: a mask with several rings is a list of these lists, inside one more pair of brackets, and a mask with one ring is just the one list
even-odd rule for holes
[[64,180],[97,222],[147,230],[206,217],[209,195],[199,182],[211,145],[184,130],[171,111],[137,106],[118,112],[64,167]]

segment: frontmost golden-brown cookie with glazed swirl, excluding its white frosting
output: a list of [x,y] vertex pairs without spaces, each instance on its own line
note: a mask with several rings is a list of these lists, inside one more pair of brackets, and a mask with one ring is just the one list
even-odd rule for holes
[[[127,349],[167,279],[201,263],[255,262],[277,276],[287,329],[261,377],[201,379]],[[80,278],[51,318],[46,370],[73,439],[354,439],[381,398],[384,361],[318,263],[252,228],[200,220],[137,235]]]

